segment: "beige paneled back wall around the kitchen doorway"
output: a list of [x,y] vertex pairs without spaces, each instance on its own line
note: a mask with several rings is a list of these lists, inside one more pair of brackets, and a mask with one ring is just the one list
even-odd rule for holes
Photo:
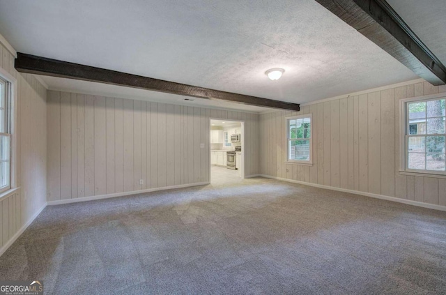
[[48,201],[208,182],[210,118],[245,121],[259,174],[258,114],[59,91],[47,107]]

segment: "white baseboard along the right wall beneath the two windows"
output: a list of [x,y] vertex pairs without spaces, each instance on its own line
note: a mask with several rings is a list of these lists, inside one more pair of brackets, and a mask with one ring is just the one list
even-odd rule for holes
[[439,211],[446,211],[446,206],[417,202],[417,201],[413,201],[411,199],[399,199],[397,197],[378,195],[378,194],[373,194],[371,192],[360,192],[359,190],[348,190],[347,188],[335,188],[334,186],[324,186],[322,184],[317,184],[317,183],[309,183],[309,182],[305,182],[305,181],[295,181],[293,179],[284,179],[282,177],[275,177],[275,176],[270,176],[270,175],[266,175],[266,174],[259,174],[259,176],[265,177],[267,179],[277,179],[279,181],[287,181],[287,182],[291,182],[291,183],[303,184],[305,186],[314,186],[315,188],[325,188],[326,190],[337,190],[339,192],[348,192],[348,193],[355,194],[355,195],[363,195],[366,197],[374,197],[376,199],[385,199],[387,201],[392,201],[392,202],[398,202],[398,203],[403,203],[403,204],[408,204],[408,205],[413,205],[413,206],[419,206],[419,207],[424,207],[424,208],[428,208],[428,209],[435,209],[435,210],[439,210]]

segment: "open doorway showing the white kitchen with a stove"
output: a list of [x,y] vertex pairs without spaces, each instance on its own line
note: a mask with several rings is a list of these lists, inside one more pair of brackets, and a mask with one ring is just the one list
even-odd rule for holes
[[210,119],[210,183],[238,183],[245,178],[244,121]]

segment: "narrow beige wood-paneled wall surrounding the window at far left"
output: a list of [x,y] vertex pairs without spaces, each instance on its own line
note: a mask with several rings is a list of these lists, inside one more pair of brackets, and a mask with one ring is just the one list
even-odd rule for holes
[[33,75],[15,70],[14,56],[1,44],[0,56],[0,67],[17,79],[17,126],[13,137],[17,139],[17,186],[20,186],[15,194],[0,200],[3,247],[46,204],[47,90]]

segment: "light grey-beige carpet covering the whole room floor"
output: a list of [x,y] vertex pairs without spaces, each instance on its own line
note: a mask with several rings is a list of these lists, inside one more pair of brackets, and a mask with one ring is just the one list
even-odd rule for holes
[[45,294],[446,294],[446,213],[246,179],[48,206],[0,257]]

